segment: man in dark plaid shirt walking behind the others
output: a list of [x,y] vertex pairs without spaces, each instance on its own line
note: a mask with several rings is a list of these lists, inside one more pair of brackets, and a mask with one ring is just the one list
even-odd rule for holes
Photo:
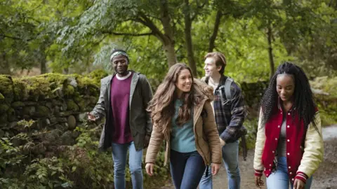
[[[223,162],[228,175],[228,188],[239,189],[241,181],[238,160],[239,138],[242,136],[242,124],[245,116],[244,98],[240,87],[234,82],[230,85],[232,98],[226,98],[227,76],[223,74],[227,64],[225,55],[220,52],[210,52],[204,58],[206,77],[201,80],[214,88],[215,98],[211,104],[218,125],[220,143],[223,146]],[[206,172],[208,173],[210,170],[206,169],[199,183],[200,189],[213,188],[212,176]]]

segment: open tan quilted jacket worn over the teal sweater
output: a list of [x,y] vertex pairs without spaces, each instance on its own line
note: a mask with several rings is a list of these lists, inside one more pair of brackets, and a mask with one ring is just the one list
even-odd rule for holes
[[[208,85],[196,78],[194,78],[193,86],[197,94],[200,94],[202,97],[204,97],[200,104],[194,106],[193,125],[197,151],[204,159],[205,165],[210,165],[211,162],[221,163],[222,153],[219,134],[211,106],[211,100],[213,100],[213,88],[210,88]],[[204,113],[205,116],[201,116],[201,111],[203,109],[206,111],[206,113]],[[155,163],[157,154],[164,139],[166,141],[164,165],[169,162],[171,151],[171,132],[163,133],[156,125],[154,125],[150,144],[147,148],[145,158],[146,163]]]

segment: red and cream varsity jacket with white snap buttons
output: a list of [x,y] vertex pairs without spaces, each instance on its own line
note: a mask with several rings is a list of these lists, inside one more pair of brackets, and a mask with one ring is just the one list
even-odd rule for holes
[[261,112],[253,165],[255,175],[262,176],[264,172],[268,177],[272,174],[283,114],[286,113],[286,162],[289,180],[292,183],[295,179],[305,182],[323,160],[324,146],[319,112],[317,111],[315,114],[315,123],[319,133],[312,123],[306,130],[303,120],[298,121],[298,115],[295,115],[295,121],[293,121],[291,111],[283,112],[280,107],[278,107],[277,113],[265,125],[262,125]]

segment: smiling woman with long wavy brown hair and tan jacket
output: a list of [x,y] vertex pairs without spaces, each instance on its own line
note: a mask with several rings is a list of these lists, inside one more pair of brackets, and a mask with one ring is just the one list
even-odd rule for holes
[[164,139],[164,165],[170,160],[176,188],[197,188],[207,165],[212,167],[211,174],[218,173],[221,148],[211,100],[213,89],[193,78],[188,66],[171,66],[147,109],[153,123],[145,160],[147,174],[153,174]]

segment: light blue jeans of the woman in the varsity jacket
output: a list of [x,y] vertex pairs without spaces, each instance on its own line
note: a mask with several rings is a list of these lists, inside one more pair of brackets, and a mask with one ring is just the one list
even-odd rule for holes
[[[267,188],[273,189],[288,189],[289,188],[289,175],[288,168],[286,166],[286,157],[277,158],[277,171],[272,172],[267,177]],[[307,179],[305,183],[305,189],[309,189],[312,183],[312,176]],[[290,184],[293,188],[293,184]]]

